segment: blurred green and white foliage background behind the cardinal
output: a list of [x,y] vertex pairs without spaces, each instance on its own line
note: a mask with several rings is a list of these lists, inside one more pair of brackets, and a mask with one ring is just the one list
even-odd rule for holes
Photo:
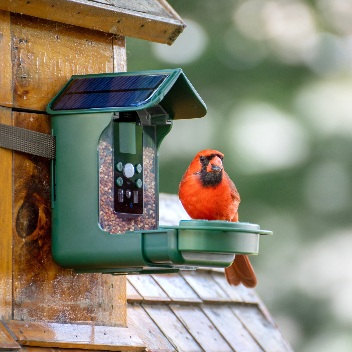
[[175,121],[160,191],[217,149],[240,221],[274,235],[251,262],[295,351],[352,351],[352,1],[170,0],[172,46],[127,38],[128,71],[182,68],[208,107]]

